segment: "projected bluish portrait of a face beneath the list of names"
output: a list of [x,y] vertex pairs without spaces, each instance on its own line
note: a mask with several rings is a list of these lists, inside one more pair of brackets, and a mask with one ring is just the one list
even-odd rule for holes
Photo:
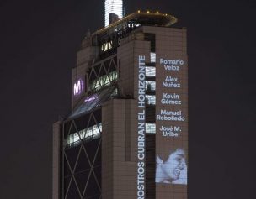
[[187,165],[184,149],[157,154],[156,183],[187,185]]

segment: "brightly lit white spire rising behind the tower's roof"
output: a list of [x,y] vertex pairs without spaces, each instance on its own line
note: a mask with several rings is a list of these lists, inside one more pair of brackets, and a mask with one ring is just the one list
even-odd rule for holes
[[105,0],[105,26],[110,23],[109,14],[114,13],[117,18],[123,18],[123,0]]

